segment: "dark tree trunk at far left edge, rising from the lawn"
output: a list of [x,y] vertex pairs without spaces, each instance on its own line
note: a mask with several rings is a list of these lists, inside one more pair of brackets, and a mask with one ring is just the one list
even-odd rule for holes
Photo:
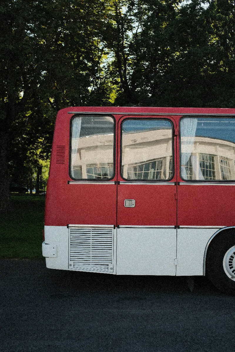
[[[4,125],[4,121],[2,121]],[[0,213],[11,210],[10,177],[8,171],[8,135],[2,126],[0,133]]]

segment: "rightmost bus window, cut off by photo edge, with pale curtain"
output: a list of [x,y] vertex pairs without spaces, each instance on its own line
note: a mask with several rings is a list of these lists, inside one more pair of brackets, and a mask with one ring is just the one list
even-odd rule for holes
[[235,119],[182,118],[180,146],[183,180],[235,180]]

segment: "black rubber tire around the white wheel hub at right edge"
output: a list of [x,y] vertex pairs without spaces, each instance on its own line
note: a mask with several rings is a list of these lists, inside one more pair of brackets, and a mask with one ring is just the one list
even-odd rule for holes
[[235,228],[222,231],[211,240],[206,253],[206,276],[220,291],[235,295]]

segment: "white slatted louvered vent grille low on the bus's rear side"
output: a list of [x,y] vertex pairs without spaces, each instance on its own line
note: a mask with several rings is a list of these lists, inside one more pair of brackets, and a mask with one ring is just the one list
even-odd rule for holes
[[70,228],[69,268],[113,272],[113,229]]

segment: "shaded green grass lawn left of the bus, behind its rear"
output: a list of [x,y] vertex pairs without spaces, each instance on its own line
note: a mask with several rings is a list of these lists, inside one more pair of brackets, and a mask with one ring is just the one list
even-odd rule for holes
[[12,213],[0,217],[0,259],[43,259],[44,196],[12,195]]

